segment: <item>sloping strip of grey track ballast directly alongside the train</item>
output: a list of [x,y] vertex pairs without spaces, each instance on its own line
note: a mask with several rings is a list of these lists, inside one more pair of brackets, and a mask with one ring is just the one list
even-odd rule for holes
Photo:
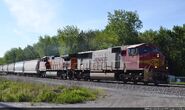
[[65,85],[65,86],[82,86],[87,88],[101,88],[105,90],[120,90],[120,91],[138,91],[139,93],[149,93],[159,94],[165,96],[177,96],[185,97],[185,87],[179,85],[171,84],[160,84],[159,86],[154,85],[143,85],[139,83],[137,85],[128,83],[123,84],[122,82],[115,81],[77,81],[77,80],[60,80],[60,79],[51,79],[51,78],[38,78],[38,77],[25,77],[25,76],[15,76],[15,75],[3,75],[0,76],[9,80],[21,80],[24,82],[34,82],[34,83],[43,83],[49,85]]

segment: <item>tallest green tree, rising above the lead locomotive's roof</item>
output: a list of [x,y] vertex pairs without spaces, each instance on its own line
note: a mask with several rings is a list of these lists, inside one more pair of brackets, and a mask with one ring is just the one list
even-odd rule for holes
[[115,10],[108,12],[107,31],[113,31],[118,36],[117,45],[138,43],[138,30],[142,22],[137,12]]

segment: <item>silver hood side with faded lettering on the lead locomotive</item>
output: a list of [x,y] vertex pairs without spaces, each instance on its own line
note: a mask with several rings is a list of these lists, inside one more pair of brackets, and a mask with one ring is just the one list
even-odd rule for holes
[[[120,47],[118,49],[121,51]],[[91,70],[123,70],[124,65],[120,51],[115,51],[113,48],[94,51]]]

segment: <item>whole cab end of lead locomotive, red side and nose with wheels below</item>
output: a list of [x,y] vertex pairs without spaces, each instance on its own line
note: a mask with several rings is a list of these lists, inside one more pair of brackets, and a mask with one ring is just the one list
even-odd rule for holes
[[124,80],[167,83],[165,57],[155,46],[145,43],[125,46],[121,55],[125,66]]

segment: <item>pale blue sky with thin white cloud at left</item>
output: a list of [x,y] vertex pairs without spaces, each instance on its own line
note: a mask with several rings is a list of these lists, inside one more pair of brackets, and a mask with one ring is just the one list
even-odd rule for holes
[[104,29],[107,12],[116,9],[137,11],[140,31],[185,23],[185,0],[0,0],[0,57],[66,25]]

